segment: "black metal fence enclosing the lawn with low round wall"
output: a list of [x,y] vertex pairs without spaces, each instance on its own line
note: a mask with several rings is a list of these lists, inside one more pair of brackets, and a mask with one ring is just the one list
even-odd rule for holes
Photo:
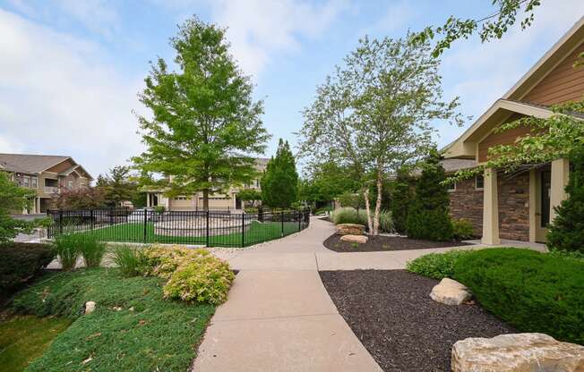
[[49,210],[48,238],[64,233],[90,234],[100,241],[198,244],[246,247],[304,230],[310,210],[231,213],[210,210],[129,208]]

